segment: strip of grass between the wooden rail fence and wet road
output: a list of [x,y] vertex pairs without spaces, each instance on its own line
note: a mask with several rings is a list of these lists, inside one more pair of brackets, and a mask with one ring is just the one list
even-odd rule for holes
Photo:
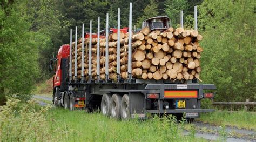
[[216,110],[211,113],[201,113],[198,120],[214,125],[235,126],[256,131],[256,112]]

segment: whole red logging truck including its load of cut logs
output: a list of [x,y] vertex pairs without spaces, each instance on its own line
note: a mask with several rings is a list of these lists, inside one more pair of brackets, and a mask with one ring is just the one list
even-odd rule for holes
[[[196,13],[195,13],[196,15]],[[196,17],[196,16],[195,16]],[[202,36],[195,30],[174,30],[170,19],[146,19],[142,30],[132,31],[130,3],[129,28],[106,28],[84,33],[82,38],[62,45],[51,59],[53,104],[65,109],[99,109],[104,116],[127,120],[146,119],[147,114],[173,114],[193,120],[201,112],[201,99],[213,98],[213,84],[199,84]],[[133,32],[133,33],[132,33]],[[52,67],[53,66],[53,67]]]

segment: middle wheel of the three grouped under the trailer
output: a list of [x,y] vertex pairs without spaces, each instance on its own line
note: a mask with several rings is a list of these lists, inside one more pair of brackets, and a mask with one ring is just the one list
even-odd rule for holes
[[120,106],[121,106],[121,96],[118,94],[113,94],[110,101],[110,116],[111,118],[120,118]]

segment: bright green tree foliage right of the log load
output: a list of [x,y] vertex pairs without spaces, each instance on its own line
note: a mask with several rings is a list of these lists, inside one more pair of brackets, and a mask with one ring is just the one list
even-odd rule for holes
[[218,100],[256,99],[255,11],[253,1],[211,1],[200,5],[204,31],[204,83],[214,83]]

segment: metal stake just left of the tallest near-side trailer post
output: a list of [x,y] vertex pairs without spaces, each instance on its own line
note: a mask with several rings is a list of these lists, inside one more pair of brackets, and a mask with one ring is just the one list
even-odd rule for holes
[[120,82],[120,8],[117,16],[117,82]]

